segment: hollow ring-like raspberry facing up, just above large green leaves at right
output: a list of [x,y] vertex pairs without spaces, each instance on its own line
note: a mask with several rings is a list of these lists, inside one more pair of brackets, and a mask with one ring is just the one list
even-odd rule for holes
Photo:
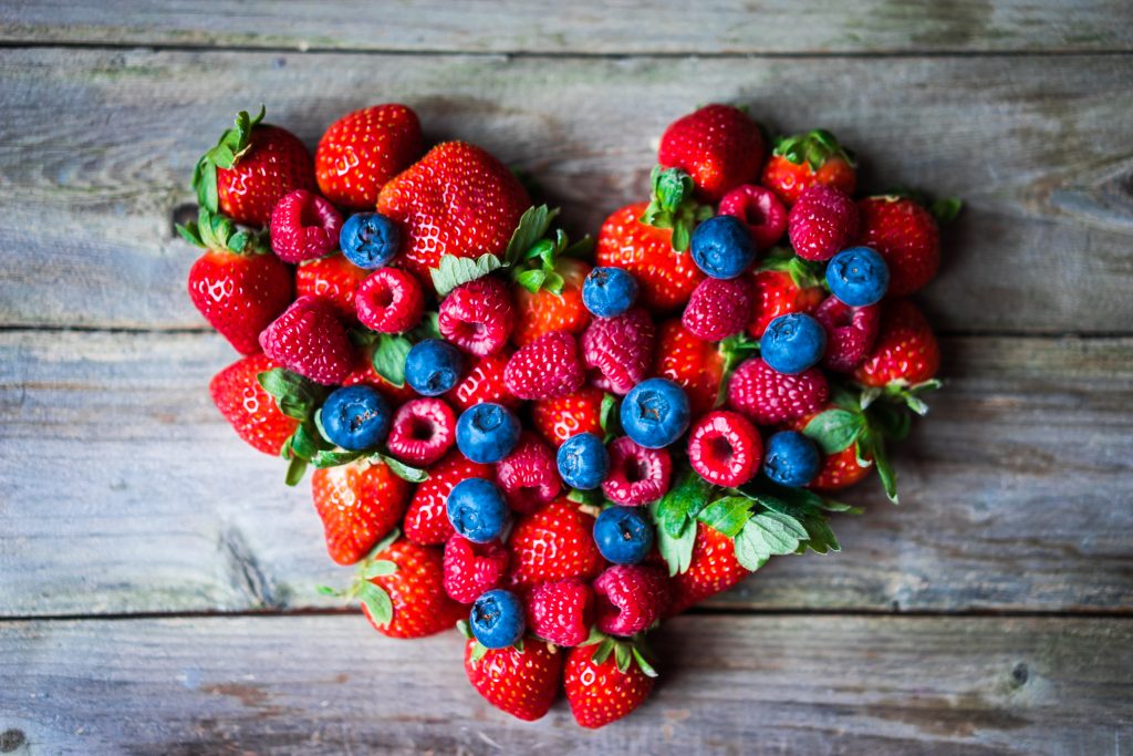
[[689,434],[689,464],[716,485],[743,485],[759,472],[763,456],[759,430],[738,413],[708,413]]

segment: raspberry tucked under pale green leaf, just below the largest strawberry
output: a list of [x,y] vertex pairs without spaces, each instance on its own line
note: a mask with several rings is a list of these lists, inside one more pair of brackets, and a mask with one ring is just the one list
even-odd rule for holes
[[445,339],[471,355],[496,354],[516,325],[506,284],[488,277],[458,286],[441,303],[438,325]]

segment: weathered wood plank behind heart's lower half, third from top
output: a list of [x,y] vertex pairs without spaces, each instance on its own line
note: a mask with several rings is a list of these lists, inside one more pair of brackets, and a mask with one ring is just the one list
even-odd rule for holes
[[[717,605],[1133,609],[1133,339],[953,338],[947,389],[836,557],[773,561]],[[333,603],[306,486],[235,438],[218,337],[0,334],[0,614]]]

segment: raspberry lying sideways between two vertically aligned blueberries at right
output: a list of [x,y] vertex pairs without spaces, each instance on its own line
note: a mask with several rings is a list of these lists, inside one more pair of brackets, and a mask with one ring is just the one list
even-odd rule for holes
[[829,396],[823,371],[780,373],[759,357],[744,362],[727,385],[727,405],[756,425],[778,425],[818,411]]

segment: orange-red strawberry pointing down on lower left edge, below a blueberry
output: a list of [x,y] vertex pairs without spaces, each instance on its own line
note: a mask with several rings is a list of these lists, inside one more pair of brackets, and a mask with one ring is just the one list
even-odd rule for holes
[[315,470],[310,493],[331,559],[353,564],[368,554],[401,523],[411,490],[382,462],[356,461]]

